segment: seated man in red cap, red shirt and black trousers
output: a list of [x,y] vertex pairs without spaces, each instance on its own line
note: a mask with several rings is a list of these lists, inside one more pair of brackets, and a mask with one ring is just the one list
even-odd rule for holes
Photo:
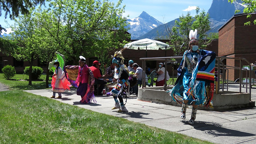
[[92,73],[94,75],[95,83],[98,82],[98,85],[100,85],[98,87],[98,90],[97,90],[97,86],[94,87],[95,94],[97,94],[97,91],[98,91],[98,95],[102,95],[101,92],[104,89],[104,85],[107,84],[107,82],[104,81],[104,80],[100,80],[100,79],[106,78],[106,75],[101,76],[100,70],[99,70],[99,67],[100,67],[99,65],[100,65],[100,63],[97,60],[95,60],[92,63],[92,66],[89,67],[89,68],[91,69],[91,71],[92,71]]

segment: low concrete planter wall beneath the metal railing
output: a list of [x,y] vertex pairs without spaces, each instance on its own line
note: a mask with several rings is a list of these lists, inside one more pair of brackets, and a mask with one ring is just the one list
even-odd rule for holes
[[[149,101],[154,103],[161,103],[172,106],[181,106],[176,103],[167,91],[161,90],[163,86],[156,87],[145,87],[144,89],[139,88],[138,100]],[[171,87],[167,87],[167,90],[171,90]],[[222,92],[220,92],[222,93]],[[248,93],[224,91],[224,94],[214,94],[213,96],[213,108],[206,108],[199,106],[200,110],[227,110],[231,108],[244,108],[254,107],[255,102],[250,102],[250,95]]]

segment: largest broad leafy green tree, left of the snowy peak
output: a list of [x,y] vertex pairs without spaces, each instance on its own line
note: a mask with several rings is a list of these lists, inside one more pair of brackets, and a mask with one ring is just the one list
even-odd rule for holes
[[121,2],[114,5],[110,0],[54,0],[48,10],[38,12],[42,14],[38,23],[66,58],[76,64],[80,55],[98,57],[102,50],[123,46],[129,35]]

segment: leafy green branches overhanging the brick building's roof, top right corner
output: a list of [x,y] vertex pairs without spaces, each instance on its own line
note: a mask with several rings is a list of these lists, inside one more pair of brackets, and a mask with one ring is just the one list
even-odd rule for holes
[[[233,3],[236,0],[228,0]],[[246,5],[244,8],[245,14],[251,14],[256,11],[256,1],[255,0],[241,0],[243,5]],[[240,10],[236,10],[235,14],[240,12]],[[247,15],[247,18],[251,18],[251,15]],[[256,20],[254,20],[254,25],[256,25]],[[244,25],[251,25],[251,21],[245,22]]]

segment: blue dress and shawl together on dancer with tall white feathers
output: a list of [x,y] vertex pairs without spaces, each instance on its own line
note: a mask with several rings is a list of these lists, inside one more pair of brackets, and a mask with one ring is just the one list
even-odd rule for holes
[[178,103],[188,100],[188,105],[212,107],[216,54],[212,51],[186,51],[179,68],[175,86],[170,96]]

